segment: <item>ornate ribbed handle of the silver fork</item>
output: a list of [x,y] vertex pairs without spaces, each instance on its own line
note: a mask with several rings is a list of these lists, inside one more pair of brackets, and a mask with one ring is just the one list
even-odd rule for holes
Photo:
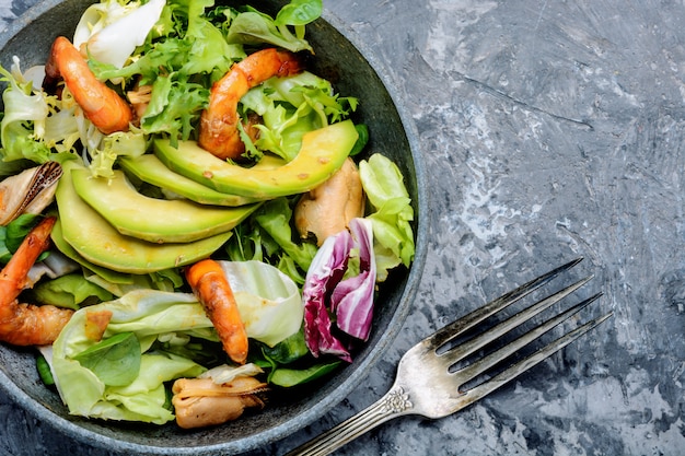
[[403,414],[413,413],[409,397],[400,386],[393,386],[381,399],[340,424],[324,432],[286,456],[324,456],[378,425]]

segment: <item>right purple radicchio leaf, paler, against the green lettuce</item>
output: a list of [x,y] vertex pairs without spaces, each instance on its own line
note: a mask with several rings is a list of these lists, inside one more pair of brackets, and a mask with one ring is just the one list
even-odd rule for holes
[[357,339],[367,340],[373,317],[375,258],[371,221],[353,219],[350,231],[359,248],[359,276],[338,283],[330,296],[338,328]]

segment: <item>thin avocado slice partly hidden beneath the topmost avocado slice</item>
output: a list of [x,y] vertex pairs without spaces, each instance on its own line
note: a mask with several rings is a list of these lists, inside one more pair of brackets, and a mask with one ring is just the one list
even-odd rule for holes
[[164,163],[160,162],[160,159],[153,154],[144,154],[138,157],[121,156],[119,157],[119,165],[126,173],[138,177],[142,182],[173,191],[200,204],[243,206],[256,201],[255,198],[222,194],[186,176],[174,173],[164,166]]

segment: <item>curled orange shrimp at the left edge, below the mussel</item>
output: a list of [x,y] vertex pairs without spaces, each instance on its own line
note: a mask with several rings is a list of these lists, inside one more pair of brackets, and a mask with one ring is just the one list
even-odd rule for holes
[[54,305],[20,304],[16,297],[26,285],[26,274],[50,242],[55,218],[44,219],[24,238],[0,272],[0,340],[15,346],[53,343],[73,311]]

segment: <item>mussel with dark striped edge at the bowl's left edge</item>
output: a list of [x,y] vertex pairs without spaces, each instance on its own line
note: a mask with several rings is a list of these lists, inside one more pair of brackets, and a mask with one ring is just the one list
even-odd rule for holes
[[55,199],[62,167],[57,162],[25,169],[0,183],[0,225],[23,213],[38,214]]

